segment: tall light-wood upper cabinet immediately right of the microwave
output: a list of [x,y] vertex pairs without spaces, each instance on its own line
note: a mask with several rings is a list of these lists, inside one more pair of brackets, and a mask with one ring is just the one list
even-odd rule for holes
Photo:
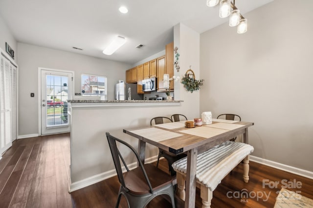
[[[165,56],[156,59],[157,69],[157,91],[164,92],[163,75],[168,74],[170,78],[174,76],[174,42],[165,46]],[[174,90],[174,82],[170,82],[170,89]]]

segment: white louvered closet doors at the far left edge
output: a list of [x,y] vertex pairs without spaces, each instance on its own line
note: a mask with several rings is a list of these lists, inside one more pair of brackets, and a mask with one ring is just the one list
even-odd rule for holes
[[0,56],[0,153],[12,145],[17,136],[17,67]]

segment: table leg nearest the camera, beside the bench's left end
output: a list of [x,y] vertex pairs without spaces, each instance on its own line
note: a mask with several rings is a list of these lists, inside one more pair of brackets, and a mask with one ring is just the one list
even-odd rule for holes
[[196,170],[198,149],[187,152],[186,198],[185,208],[195,208],[196,205]]

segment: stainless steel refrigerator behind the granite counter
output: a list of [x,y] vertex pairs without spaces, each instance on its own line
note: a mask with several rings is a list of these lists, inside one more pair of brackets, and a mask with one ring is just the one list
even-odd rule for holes
[[137,84],[120,82],[115,84],[115,100],[143,100],[142,94],[137,94]]

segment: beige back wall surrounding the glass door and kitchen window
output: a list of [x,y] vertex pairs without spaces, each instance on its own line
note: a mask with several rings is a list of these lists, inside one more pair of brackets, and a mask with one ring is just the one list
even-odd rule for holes
[[[107,76],[108,99],[114,99],[114,84],[125,79],[129,64],[65,51],[18,43],[19,135],[38,133],[38,67],[74,71],[75,93],[81,93],[81,74]],[[74,93],[73,92],[73,93]],[[30,97],[35,93],[35,97]]]

